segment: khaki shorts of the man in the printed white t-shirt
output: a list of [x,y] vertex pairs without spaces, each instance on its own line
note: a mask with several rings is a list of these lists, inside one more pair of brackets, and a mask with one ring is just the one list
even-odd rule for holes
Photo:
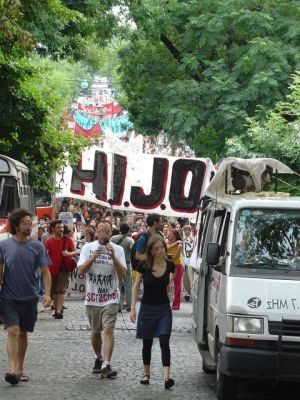
[[103,327],[114,327],[118,316],[118,304],[107,306],[86,306],[92,332],[100,332]]

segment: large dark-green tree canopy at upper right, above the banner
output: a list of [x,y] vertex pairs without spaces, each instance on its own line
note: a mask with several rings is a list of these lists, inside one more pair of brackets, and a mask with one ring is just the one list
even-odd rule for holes
[[124,102],[143,132],[183,137],[217,160],[264,118],[299,69],[298,1],[131,0]]

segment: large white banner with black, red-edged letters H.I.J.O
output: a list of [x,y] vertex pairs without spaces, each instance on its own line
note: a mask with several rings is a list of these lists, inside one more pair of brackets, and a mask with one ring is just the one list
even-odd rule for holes
[[213,171],[205,158],[117,154],[96,146],[57,177],[57,197],[73,197],[116,210],[194,218]]

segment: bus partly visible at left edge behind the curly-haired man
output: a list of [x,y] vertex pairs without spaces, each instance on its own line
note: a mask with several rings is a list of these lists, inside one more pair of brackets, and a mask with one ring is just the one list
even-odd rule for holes
[[[35,214],[34,196],[28,174],[29,169],[26,165],[0,155],[0,240],[8,237],[7,220],[13,210],[22,207]],[[37,228],[36,218],[34,227]]]

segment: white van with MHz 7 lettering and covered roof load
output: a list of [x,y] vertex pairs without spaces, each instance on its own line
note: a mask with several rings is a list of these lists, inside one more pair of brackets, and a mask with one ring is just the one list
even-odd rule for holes
[[227,159],[208,186],[192,256],[193,336],[217,397],[240,378],[300,380],[300,198],[262,192],[272,159]]

